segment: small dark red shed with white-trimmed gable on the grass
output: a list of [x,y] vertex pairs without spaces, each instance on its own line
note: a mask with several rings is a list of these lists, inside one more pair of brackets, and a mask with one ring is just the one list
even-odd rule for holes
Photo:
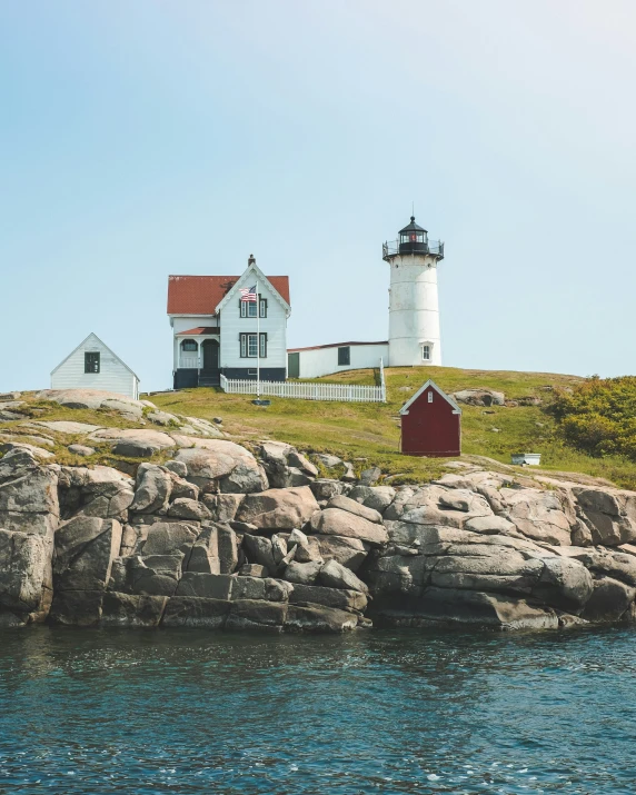
[[407,456],[459,456],[461,409],[428,380],[399,410],[401,451]]

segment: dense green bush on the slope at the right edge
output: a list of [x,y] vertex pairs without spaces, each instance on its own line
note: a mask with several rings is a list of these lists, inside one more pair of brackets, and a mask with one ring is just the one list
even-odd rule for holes
[[594,376],[557,390],[550,405],[566,444],[588,455],[624,455],[636,460],[636,377]]

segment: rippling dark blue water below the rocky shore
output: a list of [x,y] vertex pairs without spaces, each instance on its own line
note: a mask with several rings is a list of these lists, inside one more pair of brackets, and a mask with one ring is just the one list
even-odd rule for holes
[[0,638],[0,793],[636,793],[636,632]]

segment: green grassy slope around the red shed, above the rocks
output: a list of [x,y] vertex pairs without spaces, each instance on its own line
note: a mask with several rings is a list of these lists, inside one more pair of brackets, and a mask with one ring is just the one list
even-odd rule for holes
[[[547,372],[461,370],[449,367],[389,368],[387,404],[318,403],[272,398],[271,406],[254,406],[247,395],[225,395],[215,389],[191,389],[153,395],[166,411],[211,419],[220,416],[225,429],[241,440],[269,437],[301,449],[329,451],[359,468],[378,465],[400,474],[401,481],[435,477],[443,460],[411,458],[398,453],[403,404],[426,378],[446,391],[486,387],[503,391],[517,406],[463,406],[463,451],[509,464],[511,453],[541,454],[541,469],[573,471],[606,478],[636,489],[636,464],[619,455],[602,458],[566,446],[555,418],[546,411],[555,388],[575,387],[584,379]],[[332,382],[375,384],[372,370],[352,370],[326,377]],[[533,405],[536,401],[538,405]],[[355,459],[365,459],[356,463]]]

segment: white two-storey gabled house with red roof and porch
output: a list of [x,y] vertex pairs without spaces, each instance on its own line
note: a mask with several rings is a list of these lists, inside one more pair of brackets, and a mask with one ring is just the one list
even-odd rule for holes
[[[241,301],[256,286],[258,301]],[[250,256],[241,276],[168,277],[173,386],[218,386],[227,378],[287,378],[289,278],[265,276]]]

